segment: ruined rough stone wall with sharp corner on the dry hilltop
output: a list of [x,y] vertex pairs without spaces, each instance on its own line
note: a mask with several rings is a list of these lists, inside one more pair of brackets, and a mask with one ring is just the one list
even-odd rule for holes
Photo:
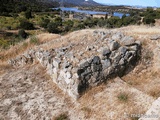
[[71,44],[57,49],[31,49],[9,63],[21,67],[39,61],[54,83],[74,99],[89,87],[108,78],[123,75],[140,53],[140,42],[111,31],[93,31],[95,41]]

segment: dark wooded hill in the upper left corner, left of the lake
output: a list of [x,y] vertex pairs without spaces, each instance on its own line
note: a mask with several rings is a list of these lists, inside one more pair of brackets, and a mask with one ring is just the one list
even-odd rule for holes
[[54,0],[0,0],[0,15],[19,13],[26,10],[34,12],[46,11],[51,7],[58,7],[59,2]]

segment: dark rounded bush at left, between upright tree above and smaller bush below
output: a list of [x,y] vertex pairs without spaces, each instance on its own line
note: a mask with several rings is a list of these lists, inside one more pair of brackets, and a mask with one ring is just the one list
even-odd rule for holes
[[20,28],[25,29],[25,30],[33,30],[34,25],[27,20],[21,20],[20,21]]

